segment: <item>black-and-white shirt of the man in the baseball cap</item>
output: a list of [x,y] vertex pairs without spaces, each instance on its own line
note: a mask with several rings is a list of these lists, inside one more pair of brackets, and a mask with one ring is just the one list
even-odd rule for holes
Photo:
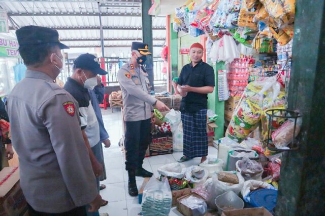
[[100,127],[90,101],[88,90],[70,77],[64,85],[64,89],[77,100],[79,104],[81,129],[85,130],[90,147],[94,147],[100,142]]

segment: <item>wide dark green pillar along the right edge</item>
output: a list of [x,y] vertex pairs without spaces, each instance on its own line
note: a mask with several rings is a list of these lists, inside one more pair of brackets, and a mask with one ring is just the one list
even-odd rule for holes
[[296,1],[288,105],[300,109],[300,149],[283,154],[276,215],[325,212],[325,0]]

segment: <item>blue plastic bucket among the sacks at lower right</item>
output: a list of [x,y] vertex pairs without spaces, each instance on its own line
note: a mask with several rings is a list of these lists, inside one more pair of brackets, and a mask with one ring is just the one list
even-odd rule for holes
[[233,191],[227,191],[217,196],[214,202],[220,214],[222,211],[244,208],[244,201]]

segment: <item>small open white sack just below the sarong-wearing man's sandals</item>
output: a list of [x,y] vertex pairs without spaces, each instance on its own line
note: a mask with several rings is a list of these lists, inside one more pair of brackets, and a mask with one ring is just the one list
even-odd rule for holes
[[198,187],[207,181],[209,171],[200,166],[190,166],[186,168],[185,178],[194,184],[194,187]]

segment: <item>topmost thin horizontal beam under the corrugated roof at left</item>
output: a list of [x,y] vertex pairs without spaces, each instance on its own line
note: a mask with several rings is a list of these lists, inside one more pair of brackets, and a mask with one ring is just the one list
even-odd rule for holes
[[[50,13],[12,13],[8,12],[8,16],[12,17],[30,17],[30,16],[95,16],[98,17],[99,13],[90,13],[90,12],[50,12]],[[141,17],[141,12],[139,13],[106,13],[102,12],[102,17]]]

